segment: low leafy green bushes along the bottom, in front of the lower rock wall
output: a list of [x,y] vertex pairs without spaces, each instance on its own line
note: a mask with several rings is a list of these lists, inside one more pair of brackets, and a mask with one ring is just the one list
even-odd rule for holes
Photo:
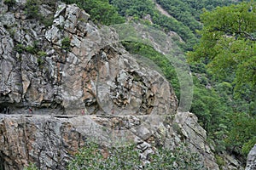
[[136,145],[130,144],[120,148],[101,147],[99,144],[87,142],[84,148],[74,157],[68,165],[68,169],[204,169],[201,159],[195,153],[184,150],[181,145],[175,150],[163,149],[155,150],[148,160],[148,164],[143,165],[140,160],[140,152]]

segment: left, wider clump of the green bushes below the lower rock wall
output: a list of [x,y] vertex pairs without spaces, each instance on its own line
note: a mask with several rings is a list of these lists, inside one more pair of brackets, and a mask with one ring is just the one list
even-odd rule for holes
[[[108,158],[102,155],[102,150],[108,153]],[[67,169],[137,169],[140,164],[138,157],[139,152],[134,144],[122,148],[102,148],[99,144],[87,142]]]

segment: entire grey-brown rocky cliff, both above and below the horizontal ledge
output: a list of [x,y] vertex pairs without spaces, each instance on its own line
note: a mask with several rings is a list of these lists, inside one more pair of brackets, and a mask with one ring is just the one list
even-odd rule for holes
[[[192,113],[177,113],[166,79],[143,68],[112,29],[98,28],[76,5],[39,6],[45,26],[27,17],[26,1],[0,14],[0,169],[65,169],[87,139],[156,145],[181,142],[218,169],[207,133]],[[146,161],[146,160],[144,160]]]

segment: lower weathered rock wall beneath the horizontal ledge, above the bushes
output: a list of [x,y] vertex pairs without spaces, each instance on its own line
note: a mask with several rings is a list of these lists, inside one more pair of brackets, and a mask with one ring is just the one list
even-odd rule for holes
[[[184,142],[201,156],[208,169],[218,169],[205,137],[196,136],[205,131],[198,128],[195,115],[179,113],[165,125],[161,122],[155,131],[145,125],[147,119],[147,116],[0,115],[0,157],[3,160],[0,166],[6,170],[21,169],[35,162],[40,169],[66,169],[68,161],[84,142],[94,139],[99,144],[116,147],[134,141],[145,162],[148,162],[148,155],[154,153],[154,146],[176,147]],[[189,126],[191,122],[193,125]],[[194,133],[194,138],[185,137],[188,132]]]

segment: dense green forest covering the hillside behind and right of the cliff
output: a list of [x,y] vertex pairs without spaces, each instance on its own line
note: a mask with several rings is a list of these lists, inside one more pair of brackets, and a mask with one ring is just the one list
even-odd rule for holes
[[[194,98],[190,111],[207,130],[216,156],[242,162],[256,143],[256,3],[232,0],[62,0],[77,3],[98,25],[130,20],[177,32],[177,50],[189,60]],[[6,1],[11,2],[11,1]],[[161,14],[155,3],[172,17]],[[150,21],[145,20],[150,15]],[[164,54],[143,42],[123,41],[131,54],[154,61],[179,98],[175,70]],[[174,57],[174,54],[173,54]],[[81,157],[81,156],[80,156]],[[220,160],[220,161],[219,161]],[[221,162],[221,158],[218,159]],[[70,165],[72,166],[72,165]],[[153,168],[153,167],[152,167]]]

